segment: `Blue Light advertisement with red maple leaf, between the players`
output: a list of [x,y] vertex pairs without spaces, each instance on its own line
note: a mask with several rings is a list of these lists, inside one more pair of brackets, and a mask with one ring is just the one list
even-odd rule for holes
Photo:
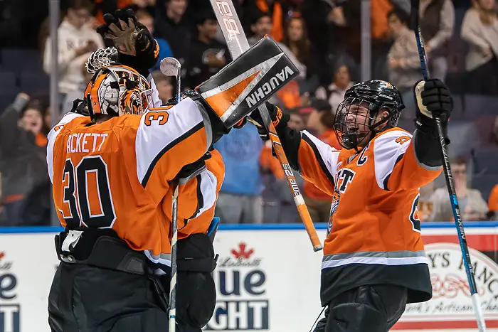
[[245,242],[221,257],[213,272],[217,301],[208,331],[265,331],[269,328],[266,273],[256,250]]

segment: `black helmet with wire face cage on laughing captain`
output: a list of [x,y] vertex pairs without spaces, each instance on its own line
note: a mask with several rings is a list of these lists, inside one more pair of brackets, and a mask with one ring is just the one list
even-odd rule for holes
[[[361,115],[360,108],[367,109],[368,114]],[[377,132],[396,127],[404,108],[401,93],[389,82],[369,80],[353,85],[346,91],[334,118],[339,144],[345,149],[357,149]],[[377,119],[380,110],[387,111],[388,116]]]

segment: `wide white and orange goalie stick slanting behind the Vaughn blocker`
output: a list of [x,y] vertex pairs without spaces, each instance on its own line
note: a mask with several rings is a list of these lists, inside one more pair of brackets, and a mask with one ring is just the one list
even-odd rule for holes
[[[248,39],[245,37],[242,25],[238,19],[238,15],[235,12],[233,3],[231,0],[210,0],[211,6],[213,6],[214,13],[218,23],[220,23],[221,31],[223,32],[223,37],[225,38],[228,51],[230,52],[233,59],[238,58],[243,52],[249,49]],[[322,244],[317,235],[317,230],[315,230],[309,211],[304,203],[304,198],[302,198],[299,186],[292,172],[292,168],[289,165],[287,156],[282,148],[282,143],[278,138],[275,126],[272,124],[270,114],[266,106],[263,104],[258,107],[261,118],[265,123],[267,132],[269,133],[270,140],[272,142],[273,149],[277,155],[278,161],[280,161],[280,166],[284,171],[285,178],[287,179],[287,184],[292,191],[294,196],[294,202],[297,207],[297,211],[300,214],[302,223],[306,228],[306,231],[311,240],[314,251],[322,250]]]

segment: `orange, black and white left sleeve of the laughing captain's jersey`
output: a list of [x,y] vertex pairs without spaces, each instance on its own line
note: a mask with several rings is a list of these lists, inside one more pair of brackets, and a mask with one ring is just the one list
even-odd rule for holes
[[308,132],[302,132],[298,154],[302,177],[332,196],[339,151],[333,151],[328,144]]

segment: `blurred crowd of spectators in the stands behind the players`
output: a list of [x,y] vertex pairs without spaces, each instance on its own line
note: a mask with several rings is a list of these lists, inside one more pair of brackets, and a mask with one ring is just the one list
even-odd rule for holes
[[[196,87],[231,61],[208,0],[60,0],[60,105],[49,106],[46,82],[55,37],[48,33],[48,1],[35,1],[33,6],[32,2],[0,3],[0,82],[2,88],[9,87],[0,95],[0,226],[50,224],[45,146],[51,110],[67,112],[73,100],[83,96],[90,79],[85,61],[106,43],[95,32],[104,13],[134,9],[157,39],[160,58],[180,60],[184,89]],[[290,114],[290,126],[307,129],[341,149],[333,129],[334,113],[346,90],[360,80],[361,1],[233,2],[250,45],[269,35],[300,70],[271,102]],[[23,6],[35,10],[23,11]],[[412,131],[412,87],[422,77],[410,1],[375,0],[370,9],[371,77],[398,87],[406,105],[400,127]],[[496,0],[420,0],[419,14],[431,75],[445,80],[455,94],[450,155],[462,217],[498,218]],[[158,69],[159,65],[151,70],[152,77],[166,102],[174,94],[174,84]],[[299,221],[280,164],[252,124],[233,130],[216,149],[226,164],[216,209],[224,223]],[[327,222],[331,198],[297,178],[314,222]],[[452,220],[444,178],[420,189],[418,208],[421,220]]]

